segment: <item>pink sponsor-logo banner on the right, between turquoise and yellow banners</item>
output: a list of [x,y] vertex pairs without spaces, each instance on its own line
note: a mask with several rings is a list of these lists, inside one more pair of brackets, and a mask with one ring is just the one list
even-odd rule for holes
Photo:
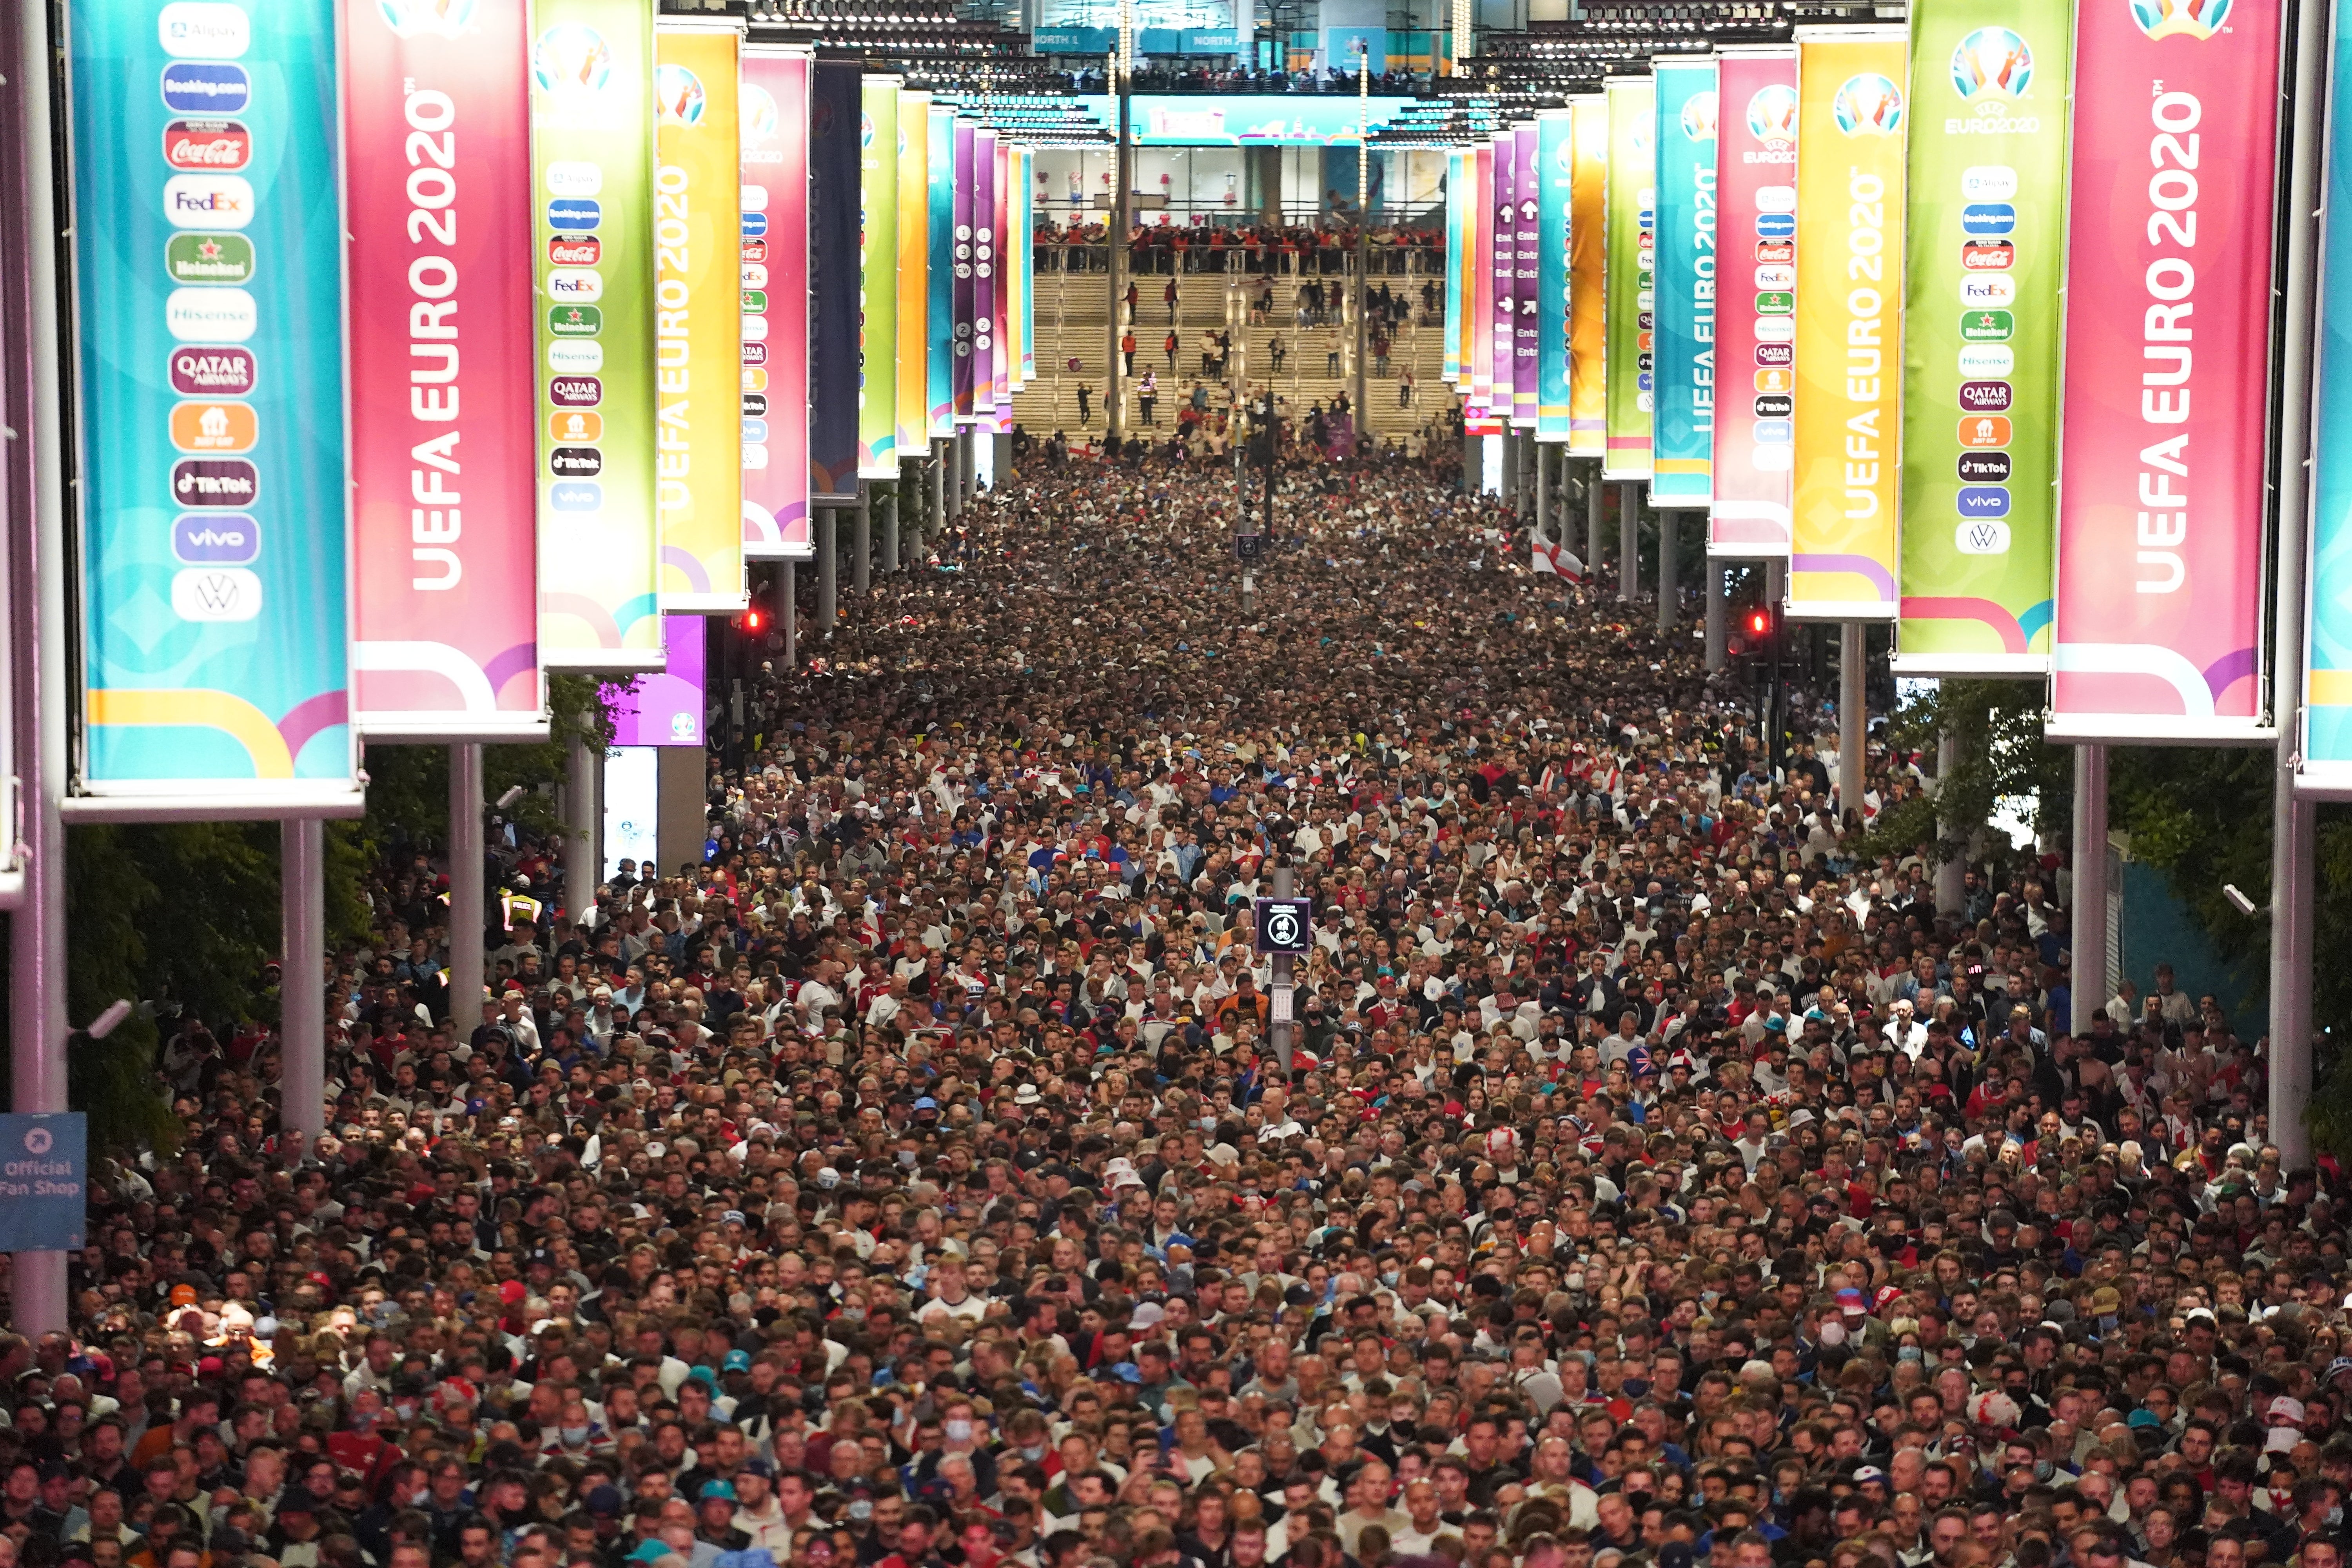
[[1797,47],[1731,47],[1717,73],[1708,552],[1785,557],[1797,454]]

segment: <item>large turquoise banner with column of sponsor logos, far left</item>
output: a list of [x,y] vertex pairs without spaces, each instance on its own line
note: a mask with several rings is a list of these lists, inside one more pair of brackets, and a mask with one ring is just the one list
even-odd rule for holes
[[92,795],[358,797],[334,12],[68,7]]

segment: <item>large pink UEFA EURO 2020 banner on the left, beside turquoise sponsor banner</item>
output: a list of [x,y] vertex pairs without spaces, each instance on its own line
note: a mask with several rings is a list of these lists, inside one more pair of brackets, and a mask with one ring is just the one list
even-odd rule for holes
[[346,0],[343,28],[353,722],[543,733],[524,7]]

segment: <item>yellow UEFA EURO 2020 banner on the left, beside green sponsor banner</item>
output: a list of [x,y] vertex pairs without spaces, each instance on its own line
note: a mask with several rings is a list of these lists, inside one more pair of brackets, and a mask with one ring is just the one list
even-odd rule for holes
[[734,26],[654,28],[654,473],[661,609],[743,595],[743,141]]

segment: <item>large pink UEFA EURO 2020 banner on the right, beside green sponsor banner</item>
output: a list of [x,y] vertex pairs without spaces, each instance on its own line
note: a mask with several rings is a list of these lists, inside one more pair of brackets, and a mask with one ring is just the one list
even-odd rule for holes
[[2277,106],[2277,0],[2077,7],[2053,738],[2267,733]]

